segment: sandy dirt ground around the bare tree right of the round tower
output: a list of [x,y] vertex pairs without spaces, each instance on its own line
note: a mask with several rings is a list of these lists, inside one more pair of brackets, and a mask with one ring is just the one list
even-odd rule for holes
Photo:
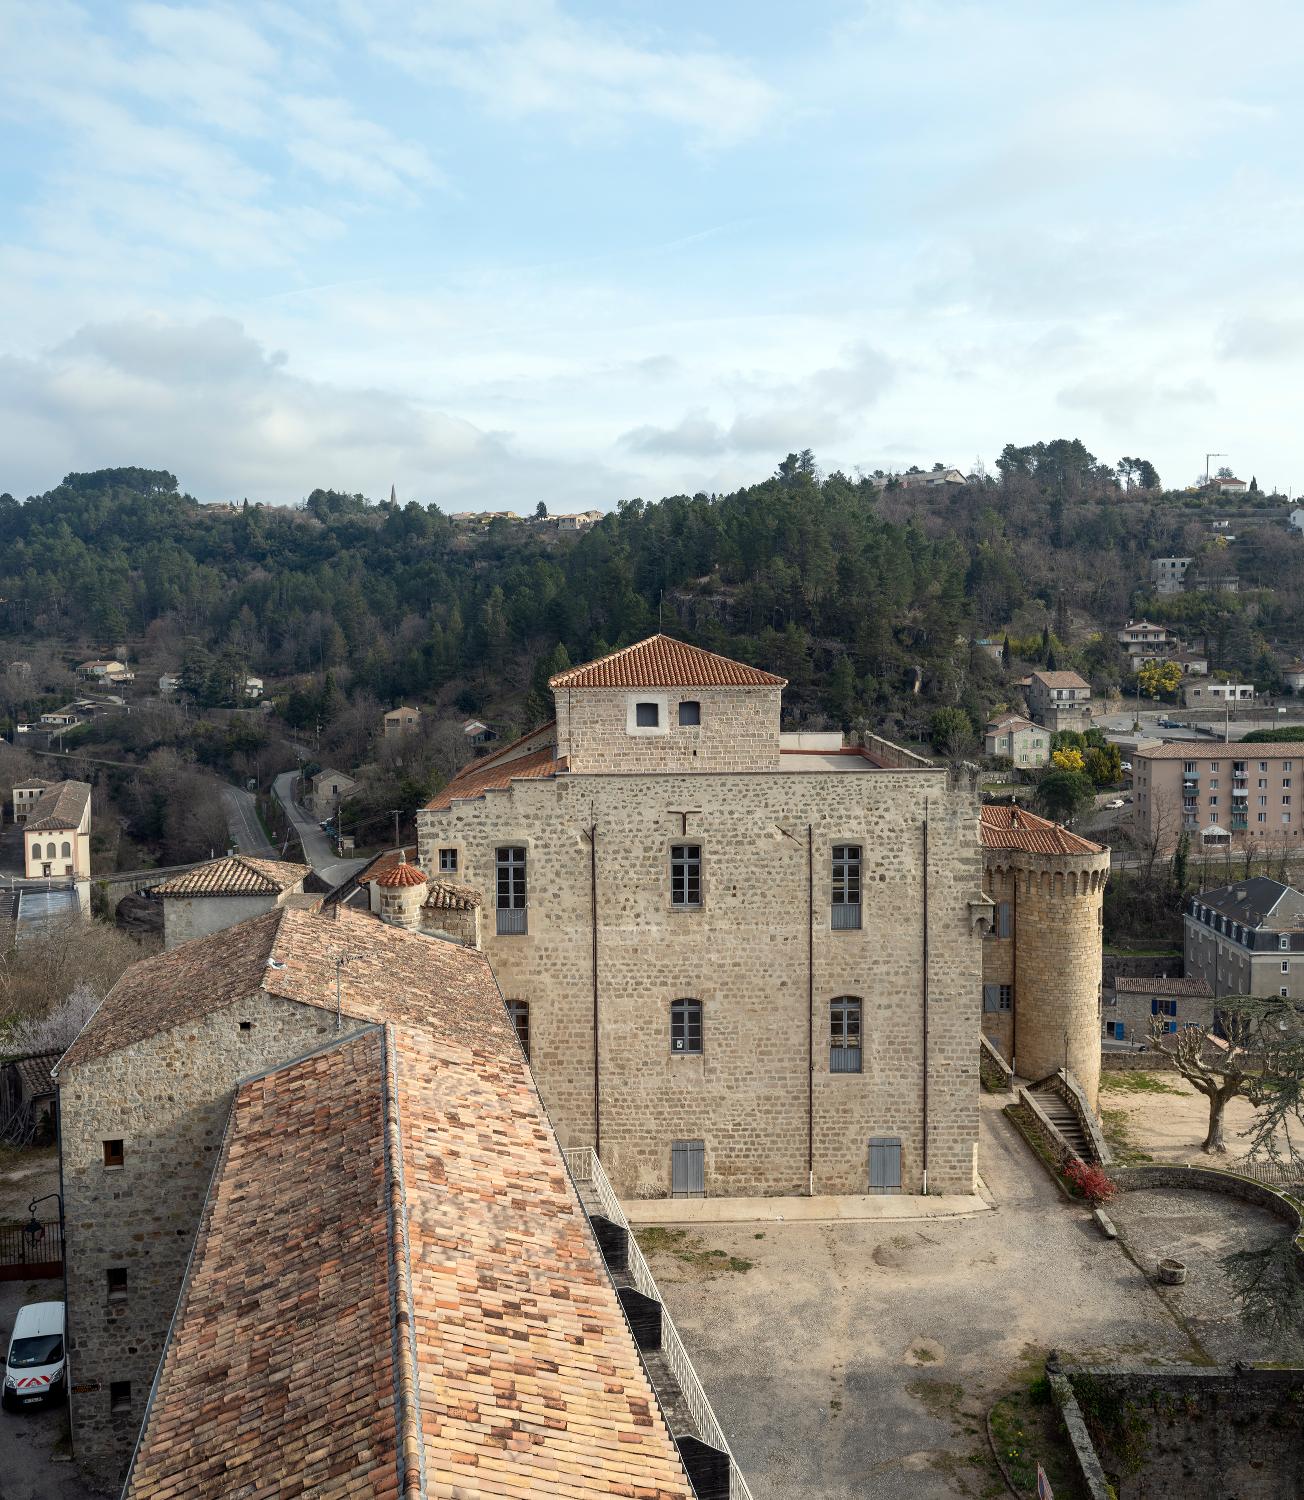
[[1209,1101],[1179,1072],[1104,1072],[1100,1113],[1112,1148],[1124,1164],[1166,1161],[1232,1166],[1248,1150],[1245,1130],[1254,1108],[1232,1100],[1224,1114],[1226,1156],[1209,1156],[1200,1142],[1209,1128]]

